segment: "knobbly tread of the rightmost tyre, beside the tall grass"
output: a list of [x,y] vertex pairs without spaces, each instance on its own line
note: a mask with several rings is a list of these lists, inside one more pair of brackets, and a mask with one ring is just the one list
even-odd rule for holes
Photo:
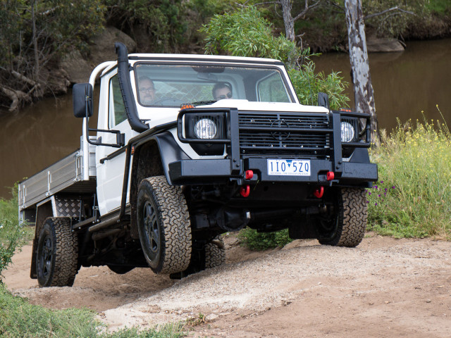
[[333,239],[321,244],[354,247],[362,242],[368,220],[365,189],[342,188],[338,229]]

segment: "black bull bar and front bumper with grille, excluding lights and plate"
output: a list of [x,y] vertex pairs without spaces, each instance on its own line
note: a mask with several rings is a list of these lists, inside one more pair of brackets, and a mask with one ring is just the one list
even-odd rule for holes
[[[196,139],[190,134],[192,121],[209,117],[218,125],[218,139]],[[185,118],[187,116],[187,118]],[[366,119],[365,130],[358,129],[358,118]],[[185,123],[184,123],[185,121]],[[341,123],[354,123],[356,136],[341,142]],[[183,130],[185,125],[185,134]],[[178,116],[178,138],[191,146],[226,146],[228,158],[185,159],[168,165],[173,184],[216,184],[230,181],[297,182],[320,185],[371,187],[378,179],[377,165],[369,162],[369,115],[331,111],[326,114],[237,111],[233,108],[189,108]],[[188,127],[187,127],[188,126]],[[199,154],[199,153],[198,153]],[[343,155],[350,156],[343,161]],[[310,160],[309,176],[268,175],[268,158]],[[347,161],[349,160],[349,161]],[[247,170],[254,177],[245,179]],[[334,173],[327,180],[327,173]],[[330,179],[330,175],[329,175]]]

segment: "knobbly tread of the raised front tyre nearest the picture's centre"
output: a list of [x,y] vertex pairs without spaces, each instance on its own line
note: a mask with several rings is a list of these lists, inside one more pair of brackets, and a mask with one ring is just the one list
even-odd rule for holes
[[159,274],[184,271],[190,265],[192,242],[190,213],[182,189],[169,185],[164,176],[142,180],[139,190],[144,184],[149,184],[156,202],[160,226],[164,228],[165,250],[158,266],[150,268]]

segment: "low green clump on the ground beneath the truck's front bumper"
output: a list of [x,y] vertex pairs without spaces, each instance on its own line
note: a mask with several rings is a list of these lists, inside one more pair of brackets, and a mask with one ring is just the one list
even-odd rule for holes
[[288,229],[276,232],[257,232],[257,230],[246,227],[238,233],[238,237],[242,244],[251,250],[273,249],[292,242],[288,236]]

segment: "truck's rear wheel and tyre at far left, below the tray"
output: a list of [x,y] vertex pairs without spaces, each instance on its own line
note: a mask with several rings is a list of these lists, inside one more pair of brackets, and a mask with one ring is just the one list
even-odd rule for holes
[[71,287],[78,273],[78,238],[70,218],[47,218],[37,242],[39,287]]

